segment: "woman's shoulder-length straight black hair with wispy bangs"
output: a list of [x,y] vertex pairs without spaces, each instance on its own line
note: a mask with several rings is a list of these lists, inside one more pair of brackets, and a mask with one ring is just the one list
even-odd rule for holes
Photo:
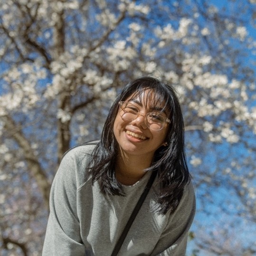
[[[103,127],[100,142],[92,154],[88,175],[92,181],[99,180],[103,194],[124,196],[122,186],[115,179],[115,162],[118,153],[118,143],[114,136],[114,121],[118,114],[119,101],[125,101],[131,95],[142,95],[145,89],[154,93],[151,106],[159,102],[164,103],[164,110],[169,113],[171,122],[168,125],[166,142],[168,146],[161,146],[154,154],[151,167],[145,171],[156,171],[156,180],[160,184],[158,205],[156,210],[166,214],[177,209],[183,195],[184,187],[190,182],[184,146],[184,123],[180,103],[175,89],[161,80],[143,76],[130,82],[123,88],[121,94],[112,105]],[[150,94],[149,94],[150,95]],[[145,104],[149,101],[145,100]]]

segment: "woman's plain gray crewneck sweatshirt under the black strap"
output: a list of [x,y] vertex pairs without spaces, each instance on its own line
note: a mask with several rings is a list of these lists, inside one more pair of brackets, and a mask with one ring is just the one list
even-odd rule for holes
[[[95,145],[78,146],[63,157],[50,193],[50,214],[42,256],[110,256],[144,187],[146,173],[126,196],[104,196],[98,182],[85,180],[89,156]],[[195,215],[195,195],[190,182],[173,214],[151,210],[159,187],[154,181],[142,208],[119,251],[119,256],[184,256],[188,231]]]

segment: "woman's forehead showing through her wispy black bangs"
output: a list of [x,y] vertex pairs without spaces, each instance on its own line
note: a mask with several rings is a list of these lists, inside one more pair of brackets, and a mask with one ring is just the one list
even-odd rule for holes
[[152,89],[134,92],[126,101],[139,104],[146,109],[167,109],[166,100],[162,95],[155,93]]

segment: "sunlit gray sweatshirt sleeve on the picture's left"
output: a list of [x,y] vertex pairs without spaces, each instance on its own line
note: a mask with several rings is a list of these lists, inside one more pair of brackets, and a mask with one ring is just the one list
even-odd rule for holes
[[85,255],[76,211],[77,166],[73,151],[66,153],[53,180],[42,256]]

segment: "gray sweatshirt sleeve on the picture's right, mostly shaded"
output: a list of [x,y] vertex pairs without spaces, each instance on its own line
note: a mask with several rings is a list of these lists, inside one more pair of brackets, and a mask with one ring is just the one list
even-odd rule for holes
[[166,228],[152,252],[157,256],[185,256],[188,233],[196,211],[196,199],[192,183],[184,190],[176,211],[170,215]]

